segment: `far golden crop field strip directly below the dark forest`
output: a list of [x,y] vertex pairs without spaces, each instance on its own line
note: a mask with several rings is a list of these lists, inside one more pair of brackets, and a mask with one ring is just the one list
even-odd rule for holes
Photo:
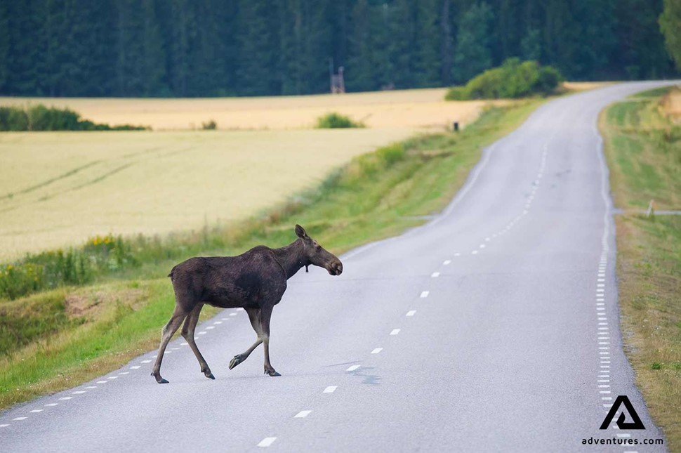
[[[0,98],[0,105],[68,107],[98,123],[151,126],[154,131],[201,129],[307,129],[327,112],[339,112],[366,126],[439,128],[475,119],[489,101],[446,102],[445,88],[377,91],[343,95],[262,98],[113,99]],[[506,101],[494,101],[503,104]]]

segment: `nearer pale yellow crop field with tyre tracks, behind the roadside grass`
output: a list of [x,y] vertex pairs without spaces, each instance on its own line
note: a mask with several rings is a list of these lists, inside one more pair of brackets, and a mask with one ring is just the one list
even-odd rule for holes
[[0,262],[244,218],[411,129],[0,133]]

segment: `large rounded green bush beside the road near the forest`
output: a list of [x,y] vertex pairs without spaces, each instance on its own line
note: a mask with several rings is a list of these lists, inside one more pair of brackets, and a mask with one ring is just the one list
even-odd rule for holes
[[552,93],[562,81],[555,67],[540,66],[536,61],[509,58],[500,67],[494,67],[470,79],[465,86],[453,86],[445,100],[522,98],[533,94]]

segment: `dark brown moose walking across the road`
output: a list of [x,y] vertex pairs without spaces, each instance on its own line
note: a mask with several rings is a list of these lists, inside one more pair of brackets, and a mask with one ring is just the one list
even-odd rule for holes
[[244,308],[256,331],[256,342],[244,353],[234,355],[230,369],[244,362],[263,343],[265,374],[281,376],[270,363],[270,317],[272,308],[284,296],[286,280],[303,266],[308,272],[311,264],[331,275],[343,273],[341,260],[317,244],[300,225],[296,225],[296,235],[298,239],[280,249],[258,245],[239,256],[195,257],[171,270],[168,277],[175,291],[175,310],[161,329],[161,346],[152,371],[158,383],[168,383],[161,377],[161,360],[168,341],[183,321],[181,334],[199,360],[201,373],[215,379],[194,341],[199,313],[206,303],[219,308]]

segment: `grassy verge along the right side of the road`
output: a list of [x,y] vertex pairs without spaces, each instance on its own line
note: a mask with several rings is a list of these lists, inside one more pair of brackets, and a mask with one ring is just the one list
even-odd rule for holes
[[619,303],[636,383],[670,451],[681,451],[681,126],[661,109],[668,88],[641,93],[602,112],[600,130],[616,216]]

